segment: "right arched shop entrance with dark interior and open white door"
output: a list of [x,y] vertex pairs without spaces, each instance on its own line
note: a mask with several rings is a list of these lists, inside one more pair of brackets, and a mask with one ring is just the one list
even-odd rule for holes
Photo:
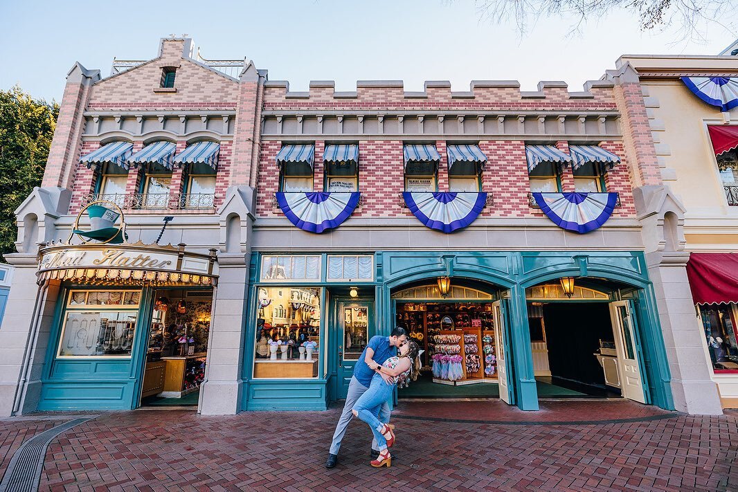
[[[560,294],[560,297],[559,297]],[[528,289],[528,325],[539,398],[630,398],[646,403],[631,300],[560,285]]]

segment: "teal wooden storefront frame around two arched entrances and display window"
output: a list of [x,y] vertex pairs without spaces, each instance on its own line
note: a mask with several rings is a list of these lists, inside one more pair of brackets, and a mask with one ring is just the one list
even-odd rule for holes
[[[341,254],[331,252],[330,254]],[[351,252],[348,254],[358,254]],[[372,254],[366,252],[365,254]],[[320,281],[312,283],[284,283],[280,285],[311,285],[326,289],[341,285],[374,285],[376,333],[388,335],[394,324],[393,291],[403,285],[435,283],[437,277],[449,275],[457,279],[477,281],[488,288],[499,289],[503,294],[508,326],[511,390],[515,404],[523,410],[537,410],[538,393],[534,378],[528,312],[525,289],[561,277],[592,278],[602,280],[631,291],[638,333],[641,342],[641,361],[646,379],[646,401],[663,409],[674,409],[671,392],[671,375],[666,359],[661,327],[658,322],[655,295],[649,281],[642,252],[374,252],[375,281],[373,283],[325,282],[325,257],[322,254],[323,274]],[[331,387],[336,377],[334,347],[326,347],[325,339],[335,340],[329,333],[328,302],[323,297],[321,316],[320,356],[328,357],[325,377],[260,381],[252,378],[256,324],[256,296],[260,286],[258,266],[262,253],[252,254],[249,288],[249,316],[246,324],[244,347],[244,392],[242,409],[245,410],[320,410],[327,408],[334,399]],[[275,286],[274,283],[269,285]],[[616,299],[613,299],[616,300]],[[326,338],[323,338],[326,337]],[[334,343],[334,342],[331,342]],[[326,354],[328,350],[328,354]],[[323,359],[325,360],[325,359]]]

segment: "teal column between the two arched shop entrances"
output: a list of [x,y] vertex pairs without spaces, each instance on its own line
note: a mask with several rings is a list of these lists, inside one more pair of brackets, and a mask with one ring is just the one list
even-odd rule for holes
[[533,350],[531,349],[531,332],[528,326],[528,307],[525,305],[525,288],[515,285],[510,289],[510,355],[512,356],[512,374],[508,376],[508,384],[514,381],[515,398],[521,410],[537,410],[538,389],[533,367]]

